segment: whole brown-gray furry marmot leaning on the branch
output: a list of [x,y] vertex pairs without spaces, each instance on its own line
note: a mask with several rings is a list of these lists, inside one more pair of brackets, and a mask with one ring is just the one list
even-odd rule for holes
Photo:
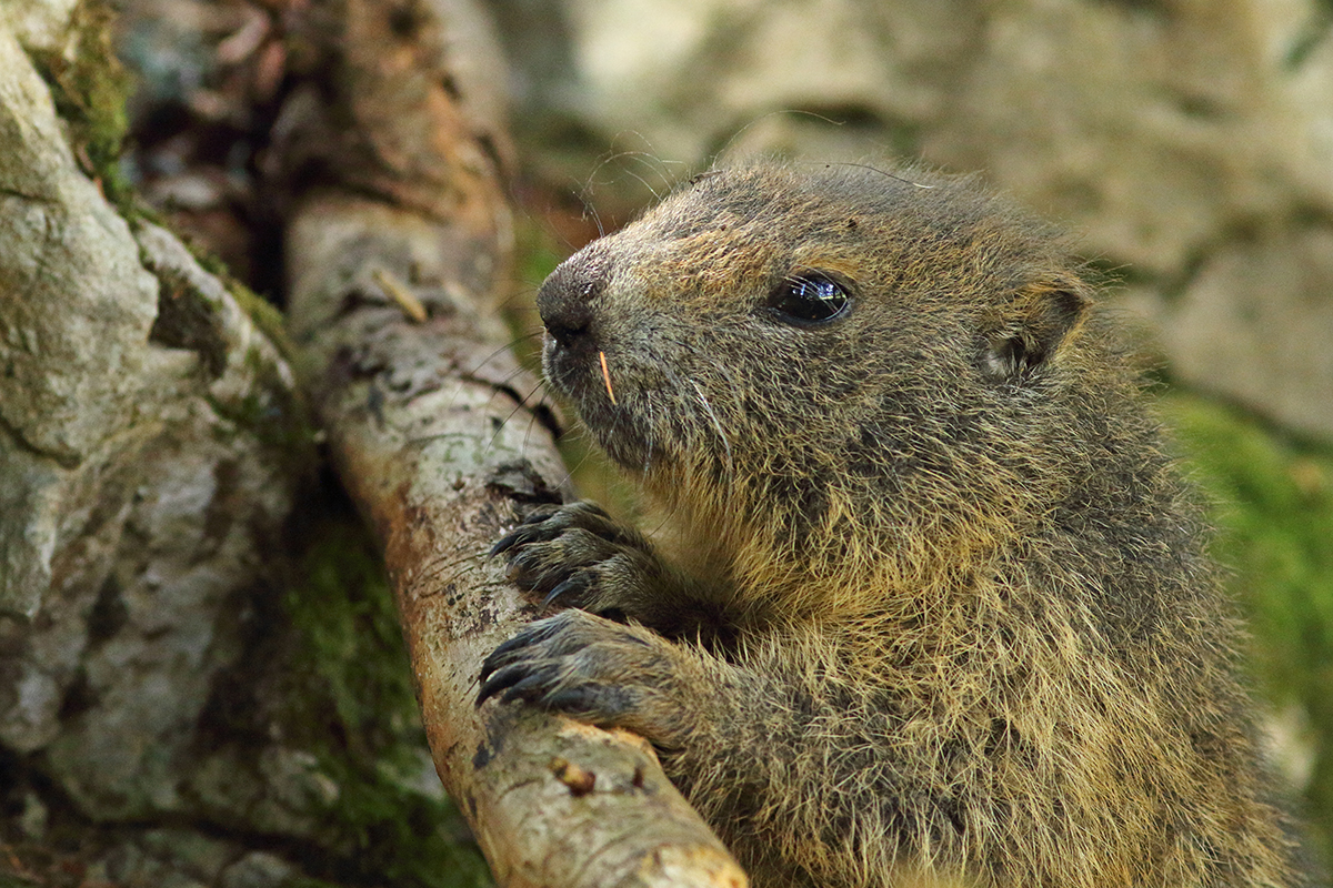
[[974,180],[698,176],[541,286],[643,485],[501,539],[573,604],[479,702],[648,738],[760,887],[1309,884],[1201,511],[1050,228]]

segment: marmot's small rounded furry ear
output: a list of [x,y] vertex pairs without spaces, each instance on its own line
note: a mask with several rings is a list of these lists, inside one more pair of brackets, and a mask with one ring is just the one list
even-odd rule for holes
[[1088,305],[1078,281],[1049,281],[1020,290],[1000,322],[985,333],[981,373],[1008,382],[1041,366],[1078,326]]

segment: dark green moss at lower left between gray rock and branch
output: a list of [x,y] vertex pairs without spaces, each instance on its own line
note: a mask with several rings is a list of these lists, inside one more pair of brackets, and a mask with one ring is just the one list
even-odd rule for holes
[[311,534],[301,582],[284,604],[301,638],[307,748],[339,784],[331,844],[351,880],[401,888],[489,884],[480,853],[443,797],[413,788],[423,767],[412,672],[393,596],[369,535],[324,519]]

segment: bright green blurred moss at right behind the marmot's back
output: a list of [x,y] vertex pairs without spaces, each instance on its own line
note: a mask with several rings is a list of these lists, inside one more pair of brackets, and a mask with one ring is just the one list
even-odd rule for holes
[[1308,813],[1333,848],[1333,447],[1197,397],[1173,395],[1166,411],[1218,503],[1217,554],[1236,571],[1261,687],[1309,716]]

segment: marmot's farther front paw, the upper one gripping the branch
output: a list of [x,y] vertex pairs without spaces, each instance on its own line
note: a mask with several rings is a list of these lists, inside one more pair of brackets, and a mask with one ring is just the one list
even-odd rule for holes
[[523,590],[611,618],[644,619],[649,576],[657,558],[637,533],[617,525],[591,502],[540,509],[491,550],[507,554],[509,576]]

